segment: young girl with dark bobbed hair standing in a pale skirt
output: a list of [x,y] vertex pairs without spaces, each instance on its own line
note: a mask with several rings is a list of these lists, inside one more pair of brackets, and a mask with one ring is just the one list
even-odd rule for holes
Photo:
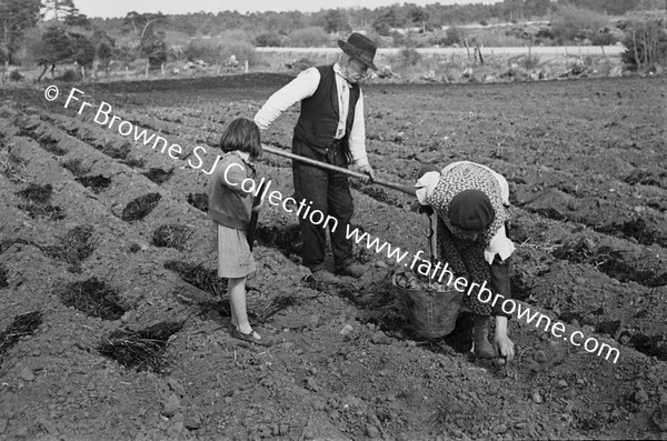
[[257,267],[247,239],[252,196],[241,190],[241,182],[255,178],[251,160],[261,156],[259,128],[245,118],[233,120],[222,133],[220,148],[226,154],[209,181],[208,213],[218,235],[218,277],[228,280],[230,334],[255,344],[270,345],[268,335],[260,335],[250,327],[246,311],[246,278]]

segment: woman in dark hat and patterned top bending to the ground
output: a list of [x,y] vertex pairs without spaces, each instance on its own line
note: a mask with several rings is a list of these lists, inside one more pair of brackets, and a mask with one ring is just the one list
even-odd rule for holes
[[[494,298],[499,294],[509,299],[509,264],[515,247],[507,238],[510,212],[505,178],[469,161],[454,162],[442,170],[427,166],[418,178],[417,199],[437,213],[439,260],[449,263],[456,277],[465,277],[468,287],[484,284],[490,287]],[[480,298],[477,292],[464,295],[464,304],[475,317],[475,357],[510,361],[514,342],[507,337],[509,314],[502,311],[502,301]],[[488,340],[491,317],[496,318],[492,344]]]

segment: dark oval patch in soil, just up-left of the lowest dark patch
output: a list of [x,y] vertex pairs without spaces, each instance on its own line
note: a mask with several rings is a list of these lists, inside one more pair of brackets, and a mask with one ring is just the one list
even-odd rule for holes
[[126,312],[118,293],[97,278],[69,283],[58,297],[67,307],[102,320],[118,320]]

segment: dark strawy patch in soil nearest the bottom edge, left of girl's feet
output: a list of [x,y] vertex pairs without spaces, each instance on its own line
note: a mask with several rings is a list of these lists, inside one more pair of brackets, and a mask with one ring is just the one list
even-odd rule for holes
[[165,350],[171,335],[183,322],[160,322],[139,331],[113,331],[98,348],[99,352],[137,371],[160,372],[167,364]]

